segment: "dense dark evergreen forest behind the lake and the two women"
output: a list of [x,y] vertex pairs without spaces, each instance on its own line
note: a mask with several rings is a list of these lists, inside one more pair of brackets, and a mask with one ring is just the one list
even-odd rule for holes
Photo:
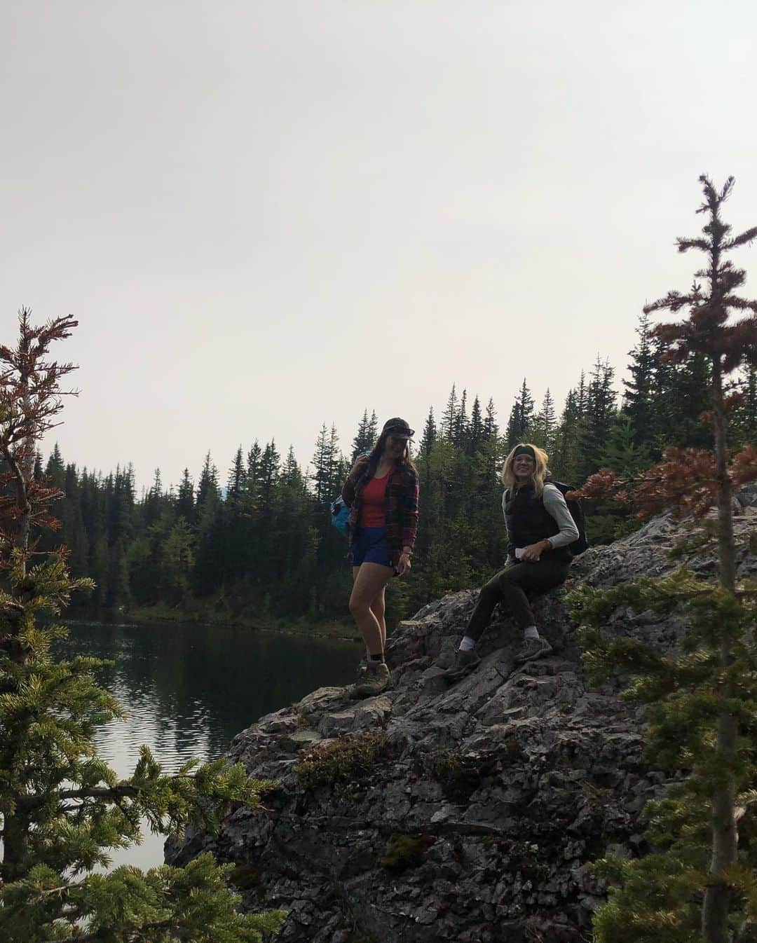
[[[492,399],[482,406],[478,395],[471,401],[454,386],[441,415],[429,409],[413,449],[421,517],[412,573],[389,587],[391,621],[446,592],[478,585],[502,565],[498,472],[516,442],[541,445],[553,476],[576,485],[605,467],[636,474],[658,461],[664,446],[707,445],[712,432],[701,417],[709,408],[708,361],[695,354],[666,362],[649,327],[643,315],[622,395],[614,368],[597,358],[580,372],[562,412],[548,389],[537,400],[527,378],[504,415]],[[757,439],[757,372],[748,368],[736,383],[744,395],[732,414],[734,450]],[[196,478],[185,469],[177,488],[164,488],[159,471],[141,496],[131,466],[105,475],[88,471],[56,445],[46,460],[37,455],[35,476],[64,492],[56,508],[61,526],[38,549],[65,544],[72,575],[93,578],[93,593],[71,612],[76,616],[347,620],[346,544],[331,526],[329,504],[354,457],[371,448],[378,432],[366,404],[348,442],[333,425],[322,426],[308,472],[292,448],[282,455],[275,441],[255,440],[246,451],[240,446],[226,474],[208,454]],[[590,543],[613,540],[639,523],[621,505],[592,503],[586,511]]]

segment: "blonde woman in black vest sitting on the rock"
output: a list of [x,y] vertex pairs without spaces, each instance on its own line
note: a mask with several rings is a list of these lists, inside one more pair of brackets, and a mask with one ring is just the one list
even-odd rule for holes
[[508,537],[508,563],[481,588],[479,602],[465,629],[454,665],[446,670],[457,681],[480,662],[476,643],[492,618],[497,603],[523,630],[523,647],[515,662],[529,661],[552,651],[539,636],[526,593],[545,592],[567,577],[572,554],[568,544],[579,537],[563,492],[548,481],[547,453],[536,445],[516,445],[502,468],[502,511]]

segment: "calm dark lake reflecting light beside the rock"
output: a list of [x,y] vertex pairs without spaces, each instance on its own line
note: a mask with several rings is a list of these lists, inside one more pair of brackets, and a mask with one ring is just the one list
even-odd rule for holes
[[[194,624],[69,625],[65,655],[115,662],[101,683],[128,711],[103,727],[97,745],[119,775],[134,768],[145,743],[166,770],[215,759],[232,736],[261,715],[325,685],[352,681],[362,645],[304,635]],[[162,835],[112,852],[113,865],[162,863]]]

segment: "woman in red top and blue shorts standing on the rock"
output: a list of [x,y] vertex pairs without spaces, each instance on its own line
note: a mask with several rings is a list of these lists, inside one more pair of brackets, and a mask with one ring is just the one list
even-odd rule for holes
[[384,590],[392,576],[410,571],[418,524],[418,473],[410,457],[414,430],[390,419],[370,455],[360,455],[347,476],[342,497],[350,505],[347,533],[352,562],[349,611],[367,652],[359,694],[378,694],[389,684],[384,661]]

